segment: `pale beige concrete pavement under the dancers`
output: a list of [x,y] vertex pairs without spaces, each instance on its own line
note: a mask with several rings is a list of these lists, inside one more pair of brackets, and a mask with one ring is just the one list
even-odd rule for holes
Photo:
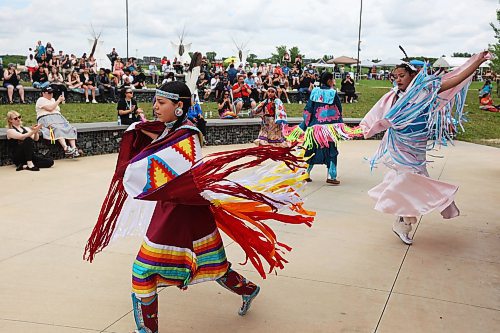
[[[391,232],[366,191],[382,170],[363,158],[376,141],[341,146],[339,187],[314,169],[312,228],[280,225],[290,263],[262,280],[225,238],[238,270],[262,286],[246,317],[239,297],[204,283],[160,294],[160,332],[500,331],[500,150],[458,142],[430,165],[460,184],[462,216],[423,217],[415,243]],[[206,153],[236,148],[209,147]],[[39,173],[0,168],[0,332],[131,332],[130,270],[139,239],[82,261],[116,155],[56,161]]]

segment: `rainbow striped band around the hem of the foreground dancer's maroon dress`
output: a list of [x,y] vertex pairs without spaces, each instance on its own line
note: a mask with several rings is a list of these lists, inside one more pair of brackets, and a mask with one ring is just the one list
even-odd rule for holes
[[141,245],[132,268],[132,291],[152,296],[161,286],[186,287],[223,276],[228,263],[219,231],[193,242],[193,250],[151,242]]

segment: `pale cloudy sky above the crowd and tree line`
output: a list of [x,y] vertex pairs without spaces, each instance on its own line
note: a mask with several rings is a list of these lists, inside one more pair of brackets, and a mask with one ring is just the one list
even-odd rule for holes
[[[125,0],[0,0],[0,54],[27,54],[37,40],[56,51],[89,52],[92,28],[107,52],[126,50]],[[191,51],[266,58],[297,46],[306,58],[357,56],[361,0],[128,0],[129,55],[171,58],[185,29]],[[360,59],[451,56],[494,43],[498,0],[364,0]],[[8,28],[6,28],[8,27]]]

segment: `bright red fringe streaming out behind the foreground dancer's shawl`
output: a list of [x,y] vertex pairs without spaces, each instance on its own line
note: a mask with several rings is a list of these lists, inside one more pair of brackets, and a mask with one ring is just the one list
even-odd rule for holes
[[[290,224],[306,224],[311,226],[314,216],[308,216],[305,210],[296,210],[301,215],[286,215],[277,212],[276,202],[263,193],[257,193],[237,183],[231,182],[227,177],[237,171],[260,165],[266,160],[284,162],[290,169],[300,167],[301,159],[291,152],[292,148],[281,147],[255,147],[242,150],[226,151],[208,155],[203,164],[192,169],[196,186],[201,190],[210,190],[267,206],[267,209],[255,210],[229,210],[222,206],[211,206],[217,226],[231,239],[238,243],[245,251],[247,259],[257,269],[262,278],[266,272],[262,262],[263,258],[269,265],[269,273],[275,268],[282,269],[287,260],[283,258],[284,251],[291,247],[280,243],[273,230],[263,223],[264,220],[276,220]],[[250,161],[237,163],[241,158],[252,158]],[[231,165],[237,163],[236,165]],[[246,223],[257,226],[251,228]],[[245,264],[243,263],[243,264]]]

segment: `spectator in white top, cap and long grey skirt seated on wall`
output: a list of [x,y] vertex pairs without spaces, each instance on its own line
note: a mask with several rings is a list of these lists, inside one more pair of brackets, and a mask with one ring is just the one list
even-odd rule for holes
[[76,148],[76,128],[64,118],[59,107],[64,96],[61,95],[55,100],[52,93],[51,87],[45,87],[42,89],[42,97],[36,101],[36,119],[38,124],[42,125],[42,136],[45,140],[57,140],[67,157],[78,157],[80,152]]

